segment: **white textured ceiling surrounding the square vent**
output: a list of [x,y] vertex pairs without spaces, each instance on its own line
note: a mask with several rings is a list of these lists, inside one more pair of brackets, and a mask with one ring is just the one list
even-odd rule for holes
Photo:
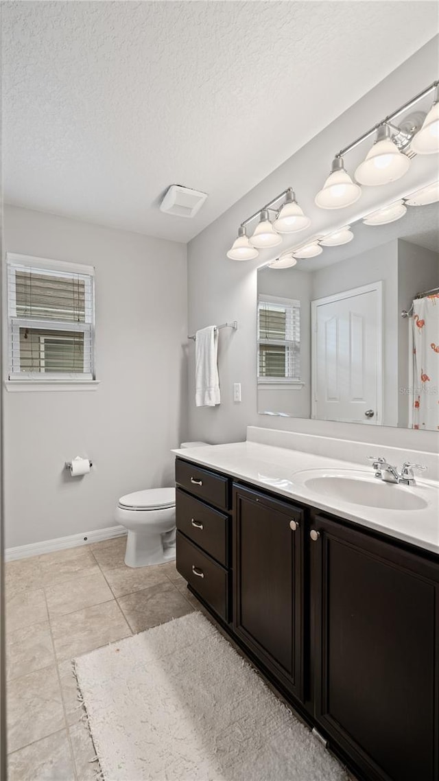
[[[5,201],[189,241],[437,32],[435,2],[4,2]],[[275,141],[274,141],[275,140]],[[170,184],[209,193],[159,212]]]

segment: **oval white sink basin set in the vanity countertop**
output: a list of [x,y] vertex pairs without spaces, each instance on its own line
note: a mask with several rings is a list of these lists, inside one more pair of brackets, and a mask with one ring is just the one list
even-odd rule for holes
[[320,497],[383,510],[423,510],[431,503],[425,496],[433,490],[385,483],[354,469],[306,469],[295,473],[293,481]]

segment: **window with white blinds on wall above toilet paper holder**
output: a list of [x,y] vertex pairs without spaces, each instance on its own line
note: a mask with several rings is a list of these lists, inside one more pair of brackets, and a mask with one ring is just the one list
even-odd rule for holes
[[94,380],[94,269],[7,255],[9,380]]

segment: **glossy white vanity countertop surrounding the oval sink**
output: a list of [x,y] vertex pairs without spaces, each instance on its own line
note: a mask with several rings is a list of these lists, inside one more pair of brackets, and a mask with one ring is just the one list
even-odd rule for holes
[[[367,464],[341,461],[323,455],[305,453],[287,448],[277,448],[258,442],[206,445],[204,448],[185,448],[173,453],[239,480],[266,488],[288,499],[302,501],[320,510],[326,510],[341,518],[367,526],[369,529],[404,540],[417,547],[439,554],[439,483],[416,477],[416,487],[398,486],[398,490],[423,493],[428,490],[430,499],[422,510],[390,510],[354,505],[344,499],[328,499],[294,482],[294,473],[304,469],[359,469],[373,475]],[[433,489],[433,490],[432,490]],[[433,496],[433,501],[431,497]]]

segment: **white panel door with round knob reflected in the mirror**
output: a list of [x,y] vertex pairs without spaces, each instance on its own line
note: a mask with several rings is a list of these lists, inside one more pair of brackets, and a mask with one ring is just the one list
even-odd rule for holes
[[312,417],[382,417],[381,283],[312,301]]

